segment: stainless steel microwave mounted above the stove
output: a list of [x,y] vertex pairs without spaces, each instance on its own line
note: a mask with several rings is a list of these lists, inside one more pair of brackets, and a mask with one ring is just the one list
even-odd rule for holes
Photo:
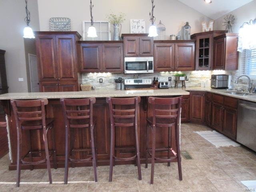
[[124,73],[154,73],[154,57],[125,57]]

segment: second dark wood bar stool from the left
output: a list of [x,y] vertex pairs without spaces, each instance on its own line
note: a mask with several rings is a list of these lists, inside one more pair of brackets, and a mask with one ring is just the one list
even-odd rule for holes
[[[92,160],[92,166],[94,168],[94,181],[97,182],[97,172],[96,172],[96,153],[94,144],[94,126],[96,124],[96,118],[93,118],[93,104],[96,102],[96,98],[86,98],[86,99],[60,99],[62,104],[62,110],[64,113],[65,121],[65,176],[64,184],[68,183],[68,163],[72,162],[88,162]],[[90,129],[90,142],[91,148],[74,148],[74,135],[70,147],[70,128],[78,129]],[[76,159],[75,152],[89,152],[92,151],[92,156],[89,158]],[[72,153],[72,158],[70,158],[70,153]]]

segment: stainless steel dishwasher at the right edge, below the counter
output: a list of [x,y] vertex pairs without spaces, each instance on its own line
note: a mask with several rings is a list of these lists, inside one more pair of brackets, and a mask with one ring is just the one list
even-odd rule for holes
[[256,151],[256,103],[238,100],[236,140]]

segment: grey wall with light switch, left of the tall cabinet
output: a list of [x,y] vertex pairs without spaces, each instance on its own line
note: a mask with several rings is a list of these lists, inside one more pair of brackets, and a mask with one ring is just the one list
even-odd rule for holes
[[[39,30],[38,5],[28,0],[31,13],[30,26]],[[6,50],[6,73],[9,92],[28,92],[23,29],[26,26],[24,0],[0,0],[0,49]],[[18,78],[24,81],[19,82]]]

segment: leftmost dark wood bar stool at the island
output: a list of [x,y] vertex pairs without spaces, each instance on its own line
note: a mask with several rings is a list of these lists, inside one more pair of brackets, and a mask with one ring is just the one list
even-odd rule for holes
[[[53,155],[54,168],[57,169],[55,139],[52,118],[45,117],[45,105],[48,104],[47,99],[38,100],[11,100],[12,108],[14,111],[14,117],[17,126],[17,182],[16,186],[20,186],[20,169],[21,165],[30,165],[30,170],[34,169],[34,165],[46,162],[48,169],[49,181],[52,184],[52,174],[50,167],[50,156]],[[42,130],[44,140],[44,152],[46,158],[42,158],[39,161],[33,161],[32,154],[43,154],[43,151],[32,151],[31,146],[31,133],[33,130]],[[52,136],[52,150],[49,154],[48,149],[48,130],[51,130]],[[28,153],[22,157],[22,132],[28,133]],[[28,156],[29,161],[24,160]]]

